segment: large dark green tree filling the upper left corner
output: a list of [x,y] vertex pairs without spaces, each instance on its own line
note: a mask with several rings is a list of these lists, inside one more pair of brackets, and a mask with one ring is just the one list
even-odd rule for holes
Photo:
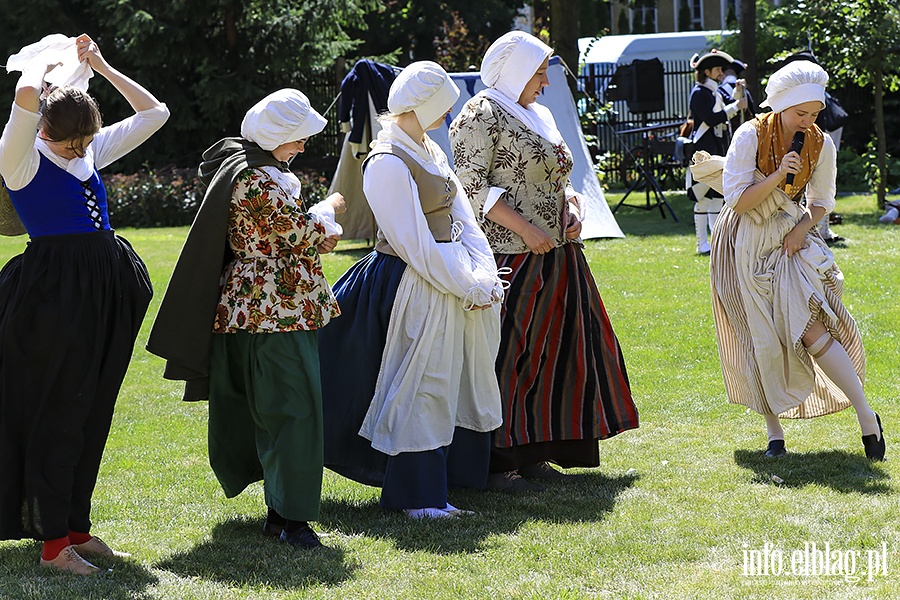
[[[8,53],[52,32],[90,34],[111,64],[146,85],[169,123],[126,157],[195,165],[216,139],[237,135],[246,110],[281,87],[304,88],[311,70],[353,55],[348,33],[378,0],[32,0],[3,11]],[[2,93],[11,101],[13,84]],[[129,111],[111,86],[92,84],[106,121]],[[316,106],[324,110],[325,106]]]

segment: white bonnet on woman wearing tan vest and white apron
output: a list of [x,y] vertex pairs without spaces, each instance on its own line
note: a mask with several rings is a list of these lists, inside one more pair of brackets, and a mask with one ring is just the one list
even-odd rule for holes
[[459,98],[459,88],[437,63],[422,60],[403,69],[391,84],[388,110],[395,115],[413,111],[422,129],[427,129],[450,110]]

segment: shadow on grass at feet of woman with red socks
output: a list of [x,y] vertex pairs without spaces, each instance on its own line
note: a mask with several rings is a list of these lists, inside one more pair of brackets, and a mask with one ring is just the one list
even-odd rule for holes
[[153,596],[146,589],[159,581],[146,567],[127,558],[90,556],[90,562],[103,571],[85,577],[41,567],[40,555],[40,542],[0,549],[0,598],[149,600]]

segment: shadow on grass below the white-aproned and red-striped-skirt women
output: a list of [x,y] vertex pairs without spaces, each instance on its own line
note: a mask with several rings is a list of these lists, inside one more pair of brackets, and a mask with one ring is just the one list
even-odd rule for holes
[[345,535],[390,539],[398,549],[436,554],[473,553],[495,535],[516,533],[523,525],[602,521],[618,496],[637,480],[637,475],[607,476],[587,472],[574,482],[542,482],[543,492],[450,491],[450,503],[473,510],[474,516],[434,521],[414,520],[399,512],[382,510],[377,501],[364,504],[324,499],[319,522]]

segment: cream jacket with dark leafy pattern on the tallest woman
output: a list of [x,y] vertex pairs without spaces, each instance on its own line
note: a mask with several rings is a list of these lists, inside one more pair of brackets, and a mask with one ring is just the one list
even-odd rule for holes
[[450,126],[456,174],[472,203],[491,248],[497,254],[530,252],[522,238],[484,218],[490,189],[506,190],[506,202],[537,225],[557,247],[569,243],[563,227],[574,161],[565,142],[552,144],[488,98],[466,102]]

